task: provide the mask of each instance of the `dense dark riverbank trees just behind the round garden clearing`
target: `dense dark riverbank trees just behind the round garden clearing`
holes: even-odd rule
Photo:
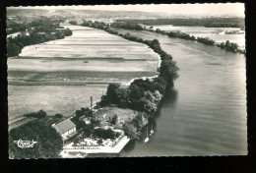
[[[152,81],[149,79],[135,80],[129,87],[110,84],[107,87],[106,95],[103,95],[98,102],[98,106],[116,104],[121,108],[130,108],[154,115],[166,87],[167,85],[161,77]]]

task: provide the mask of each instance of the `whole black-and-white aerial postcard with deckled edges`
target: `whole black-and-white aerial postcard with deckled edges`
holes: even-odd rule
[[[6,11],[10,159],[248,154],[244,3]]]

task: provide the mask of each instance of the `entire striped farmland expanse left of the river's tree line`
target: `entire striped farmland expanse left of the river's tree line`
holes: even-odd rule
[[[24,47],[8,58],[9,123],[45,110],[72,114],[100,99],[109,83],[157,75],[159,56],[142,43],[100,29],[65,26],[73,34]]]

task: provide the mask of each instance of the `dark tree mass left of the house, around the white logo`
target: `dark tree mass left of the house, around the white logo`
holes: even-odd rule
[[[17,144],[19,140],[37,143],[32,147],[21,148]],[[34,120],[9,133],[9,154],[12,158],[56,158],[61,148],[60,135],[42,121]]]

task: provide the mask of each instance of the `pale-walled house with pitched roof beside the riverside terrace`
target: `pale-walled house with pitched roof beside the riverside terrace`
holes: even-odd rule
[[[76,125],[70,119],[54,124],[52,127],[61,135],[63,141],[73,137],[77,132]]]

